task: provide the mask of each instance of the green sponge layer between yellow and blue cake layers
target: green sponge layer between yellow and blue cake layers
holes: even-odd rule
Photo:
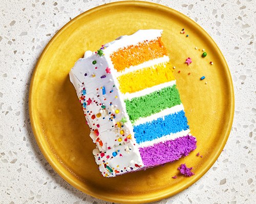
[[[124,102],[127,114],[132,122],[140,117],[147,117],[181,104],[180,94],[176,85],[165,87],[131,100],[125,99]]]

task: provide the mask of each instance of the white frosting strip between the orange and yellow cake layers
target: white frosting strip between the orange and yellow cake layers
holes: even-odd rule
[[[168,62],[168,61],[169,61],[168,56],[163,56],[161,58],[156,58],[156,59],[153,59],[153,60],[149,60],[149,61],[143,62],[139,65],[130,66],[129,68],[125,68],[123,71],[117,72],[117,77],[120,77],[121,75],[129,73],[129,72],[133,72],[133,71],[143,69],[145,67],[151,67],[151,66],[154,67],[154,65],[161,64],[161,63]]]

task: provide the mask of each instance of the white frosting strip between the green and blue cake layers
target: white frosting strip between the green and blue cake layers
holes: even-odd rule
[[[160,112],[150,115],[148,117],[144,117],[144,118],[140,117],[139,119],[137,119],[134,122],[134,126],[143,124],[145,122],[151,122],[152,120],[156,120],[157,118],[164,118],[164,116],[166,116],[166,115],[177,113],[182,110],[184,110],[184,107],[182,104],[174,106],[172,108],[167,108],[167,109],[164,109],[163,111],[160,111]]]

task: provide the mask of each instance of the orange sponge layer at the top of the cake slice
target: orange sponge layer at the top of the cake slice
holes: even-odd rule
[[[136,66],[143,62],[167,56],[167,50],[161,41],[156,40],[140,42],[137,45],[130,45],[118,49],[110,55],[114,68],[122,71],[130,66]]]

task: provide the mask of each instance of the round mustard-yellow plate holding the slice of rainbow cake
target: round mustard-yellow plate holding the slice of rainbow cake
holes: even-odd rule
[[[182,28],[189,37],[180,34]],[[170,62],[176,66],[177,86],[198,147],[177,162],[105,178],[94,161],[95,145],[70,83],[69,71],[86,50],[96,50],[101,44],[139,29],[163,29],[163,42]],[[201,57],[202,48],[207,52],[205,58]],[[187,57],[193,61],[189,66],[185,64]],[[214,65],[210,65],[210,61]],[[203,75],[205,80],[201,81]],[[217,160],[232,124],[233,86],[220,49],[196,22],[161,5],[118,2],[82,13],[52,38],[33,73],[29,112],[41,151],[71,185],[113,202],[150,202],[188,188]],[[196,157],[197,152],[203,158]],[[195,175],[178,174],[181,163],[193,166]],[[177,179],[172,179],[174,175],[178,175]]]

